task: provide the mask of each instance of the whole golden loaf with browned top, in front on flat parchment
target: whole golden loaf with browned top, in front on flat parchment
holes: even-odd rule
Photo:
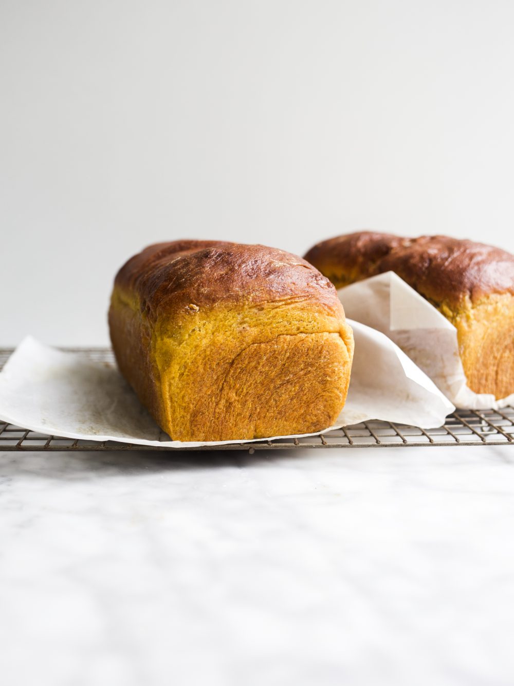
[[[173,440],[321,431],[345,403],[352,330],[332,283],[288,252],[149,246],[117,274],[109,324],[121,372]]]

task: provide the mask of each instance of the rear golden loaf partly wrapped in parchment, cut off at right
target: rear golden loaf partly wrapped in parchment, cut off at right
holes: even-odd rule
[[[446,236],[360,231],[318,243],[305,259],[337,288],[395,272],[456,327],[469,388],[496,399],[514,392],[514,255]]]

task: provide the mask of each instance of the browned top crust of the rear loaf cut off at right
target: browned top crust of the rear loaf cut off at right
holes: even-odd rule
[[[448,236],[402,238],[359,231],[318,243],[305,259],[337,287],[392,271],[435,303],[514,294],[514,255]]]

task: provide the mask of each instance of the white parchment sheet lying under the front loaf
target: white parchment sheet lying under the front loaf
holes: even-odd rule
[[[382,333],[350,324],[355,337],[350,391],[336,425],[324,430],[367,419],[441,426],[454,407],[435,384]],[[58,351],[32,337],[21,342],[0,372],[0,418],[43,434],[84,440],[171,448],[241,442],[171,440],[114,365]]]

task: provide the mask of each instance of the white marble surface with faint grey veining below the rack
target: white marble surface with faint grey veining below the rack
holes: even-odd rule
[[[3,686],[514,683],[514,448],[0,453]]]

